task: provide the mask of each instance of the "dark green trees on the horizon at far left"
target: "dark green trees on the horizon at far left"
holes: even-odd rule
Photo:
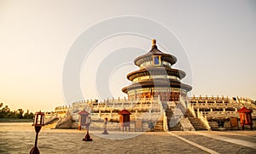
[[[27,110],[24,114],[24,111],[22,109],[18,109],[17,111],[11,111],[9,109],[9,106],[4,106],[3,103],[0,103],[0,118],[25,118],[25,119],[32,119],[34,117],[34,114]]]

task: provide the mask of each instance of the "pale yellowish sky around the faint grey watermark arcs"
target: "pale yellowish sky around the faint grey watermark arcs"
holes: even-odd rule
[[[183,57],[175,54],[178,51],[168,52],[177,56],[178,69],[191,71],[183,79],[183,83],[193,87],[190,95],[229,95],[256,100],[253,0],[0,0],[0,102],[12,110],[30,111],[54,111],[56,106],[69,105],[71,102],[67,102],[63,93],[62,75],[70,48],[90,27],[122,16],[154,20],[172,31],[183,46],[189,66],[183,66]],[[96,31],[96,35],[99,33]],[[165,45],[160,44],[160,50],[165,51]],[[148,37],[124,34],[99,40],[80,71],[85,100],[99,98],[98,67],[104,62],[107,68],[106,57],[123,47],[136,47],[137,52],[132,54],[130,63],[116,66],[106,78],[109,97],[125,97],[121,88],[131,83],[126,74],[138,69],[132,63],[134,58],[150,49]],[[125,56],[115,59],[122,60]]]

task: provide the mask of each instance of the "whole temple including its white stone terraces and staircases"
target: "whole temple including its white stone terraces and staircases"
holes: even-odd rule
[[[134,60],[139,70],[126,76],[132,82],[122,88],[128,98],[79,100],[72,106],[58,106],[55,112],[45,115],[45,123],[54,128],[78,128],[79,111],[87,111],[92,122],[90,129],[102,128],[103,120],[108,118],[112,122],[108,130],[119,130],[123,123],[119,114],[125,109],[129,114],[124,119],[129,117],[127,126],[131,131],[146,131],[148,123],[154,124],[154,131],[256,128],[256,101],[223,95],[188,98],[192,87],[181,82],[186,73],[172,68],[177,58],[161,52],[155,40],[152,43],[147,54]]]

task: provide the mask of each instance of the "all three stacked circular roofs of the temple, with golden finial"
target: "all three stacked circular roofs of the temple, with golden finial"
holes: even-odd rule
[[[192,89],[191,86],[181,83],[180,79],[186,76],[184,71],[180,71],[177,69],[172,69],[172,65],[177,62],[177,58],[172,54],[162,53],[157,46],[155,45],[156,41],[153,40],[153,45],[151,50],[147,54],[143,54],[137,59],[134,60],[134,63],[137,66],[141,66],[144,62],[150,61],[149,65],[141,66],[140,70],[132,71],[127,75],[127,78],[130,81],[133,81],[137,77],[144,77],[144,79],[139,79],[137,82],[131,83],[130,86],[122,88],[124,93],[128,93],[128,91],[139,88],[181,88],[186,90],[187,92]],[[164,63],[158,63],[152,65],[152,61],[154,57],[158,57],[160,61],[166,61],[170,63],[171,66],[166,66]],[[149,76],[145,78],[145,76]],[[169,78],[167,76],[171,76],[174,78]],[[178,78],[175,78],[178,77]]]

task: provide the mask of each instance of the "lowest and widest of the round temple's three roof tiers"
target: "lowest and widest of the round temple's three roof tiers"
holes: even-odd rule
[[[138,88],[181,88],[189,92],[192,87],[180,83],[177,80],[167,79],[167,78],[154,78],[146,79],[138,83],[132,83],[130,86],[122,88],[122,91],[127,94],[128,91]]]

